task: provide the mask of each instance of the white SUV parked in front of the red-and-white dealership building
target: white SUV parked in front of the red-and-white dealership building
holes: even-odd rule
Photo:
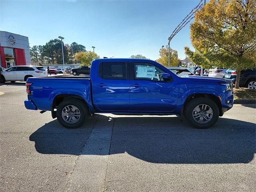
[[[1,83],[6,81],[26,81],[29,77],[47,77],[47,71],[42,66],[13,66],[1,72]]]

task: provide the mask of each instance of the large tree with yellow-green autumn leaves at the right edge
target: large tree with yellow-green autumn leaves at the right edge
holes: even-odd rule
[[[210,0],[195,13],[190,26],[192,45],[214,66],[238,71],[252,68],[256,55],[256,0]],[[190,56],[191,57],[191,56]]]

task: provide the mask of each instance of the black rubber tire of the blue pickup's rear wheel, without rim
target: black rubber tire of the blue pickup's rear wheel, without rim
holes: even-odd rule
[[[62,110],[64,110],[64,108],[69,105],[75,106],[80,111],[80,118],[75,123],[68,123],[62,118]],[[86,120],[86,118],[88,116],[88,109],[87,109],[86,105],[81,100],[75,99],[75,98],[70,98],[70,99],[66,99],[66,100],[62,101],[58,105],[56,116],[57,116],[58,122],[62,126],[69,128],[69,129],[74,129],[74,128],[80,127],[84,123],[84,121]]]

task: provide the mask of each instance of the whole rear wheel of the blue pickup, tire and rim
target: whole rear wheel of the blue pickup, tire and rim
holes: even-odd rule
[[[57,108],[58,122],[69,129],[80,127],[86,120],[88,110],[79,99],[70,98],[62,101]]]

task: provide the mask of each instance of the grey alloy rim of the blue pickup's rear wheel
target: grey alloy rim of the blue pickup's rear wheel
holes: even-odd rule
[[[74,124],[78,122],[78,120],[80,119],[81,113],[76,106],[67,105],[62,109],[61,115],[62,115],[62,119],[65,122],[69,124]]]

